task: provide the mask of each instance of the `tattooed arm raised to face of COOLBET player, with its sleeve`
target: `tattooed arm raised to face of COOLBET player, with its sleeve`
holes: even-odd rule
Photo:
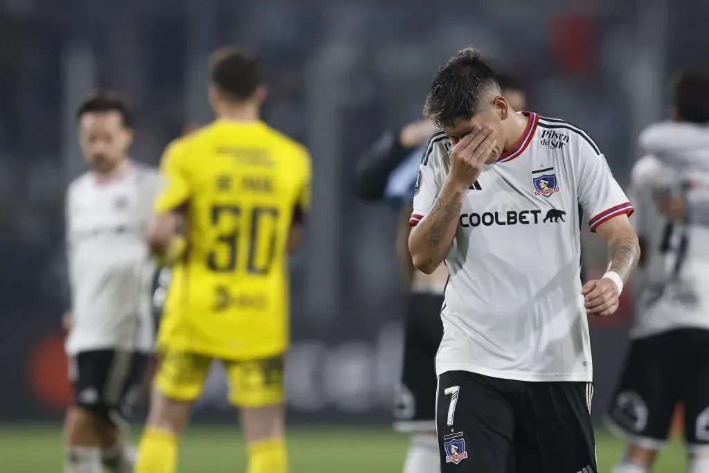
[[[440,177],[437,177],[435,170],[441,169],[447,152],[441,143],[433,141],[435,139],[427,148],[434,146],[435,153],[429,153],[427,149],[422,160],[418,192],[413,198],[411,225],[414,228],[408,238],[413,265],[425,274],[432,274],[450,251],[468,187],[479,177],[496,143],[495,132],[491,128],[477,128],[462,138],[451,152],[450,172],[440,186]],[[429,167],[431,170],[428,170]],[[438,174],[440,176],[442,173]],[[432,196],[435,196],[432,205],[426,205]],[[419,212],[426,207],[430,210],[427,209],[424,216]]]

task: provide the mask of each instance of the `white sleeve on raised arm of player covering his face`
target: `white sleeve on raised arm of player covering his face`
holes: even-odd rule
[[[448,153],[444,145],[447,143],[447,135],[444,131],[434,133],[428,140],[428,145],[423,150],[421,164],[418,168],[418,177],[413,189],[413,213],[409,224],[416,226],[421,219],[430,211],[438,193],[443,187],[445,179],[445,161]]]

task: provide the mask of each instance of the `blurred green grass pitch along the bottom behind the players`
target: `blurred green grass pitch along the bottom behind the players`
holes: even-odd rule
[[[0,472],[60,472],[60,429],[60,425],[0,426]],[[133,434],[137,437],[139,432]],[[407,445],[406,435],[387,426],[294,427],[289,430],[291,473],[399,473]],[[598,433],[598,473],[609,472],[621,452],[622,443]],[[235,428],[196,426],[182,441],[179,473],[244,471],[244,445]],[[653,472],[683,471],[683,447],[672,443],[661,452]]]

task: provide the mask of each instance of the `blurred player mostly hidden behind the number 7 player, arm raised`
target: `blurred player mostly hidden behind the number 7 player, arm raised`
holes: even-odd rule
[[[525,108],[525,92],[507,74],[497,74],[502,94],[513,108]],[[409,218],[418,166],[437,127],[427,118],[408,123],[398,133],[386,132],[357,165],[355,188],[362,199],[386,201],[398,208],[396,254],[404,285],[409,289],[404,318],[401,383],[396,389],[394,430],[411,435],[403,473],[440,471],[435,430],[435,355],[443,336],[437,314],[443,305],[448,273],[443,265],[433,274],[415,271],[408,251]]]

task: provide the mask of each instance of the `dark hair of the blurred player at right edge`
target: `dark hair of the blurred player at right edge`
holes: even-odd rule
[[[676,74],[670,87],[670,100],[680,121],[709,122],[709,73],[683,71]]]

